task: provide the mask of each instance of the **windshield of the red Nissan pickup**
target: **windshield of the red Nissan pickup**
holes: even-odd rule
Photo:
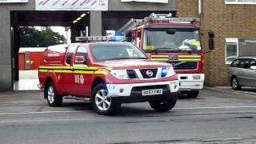
[[[142,53],[141,50],[131,43],[94,43],[90,44],[90,51],[94,61],[147,59],[146,54]]]

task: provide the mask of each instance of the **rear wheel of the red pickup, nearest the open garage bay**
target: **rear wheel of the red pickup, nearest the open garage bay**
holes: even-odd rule
[[[49,106],[62,106],[62,96],[59,96],[56,92],[56,88],[53,82],[48,82],[44,90],[45,98],[47,99]]]

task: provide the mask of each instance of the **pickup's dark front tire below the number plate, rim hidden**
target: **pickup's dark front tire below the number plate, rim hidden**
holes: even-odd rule
[[[150,106],[152,109],[158,112],[166,112],[174,108],[178,99],[178,94],[174,94],[171,99],[166,99],[162,101],[151,101]]]

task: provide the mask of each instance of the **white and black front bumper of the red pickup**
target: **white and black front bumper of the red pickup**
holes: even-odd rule
[[[178,81],[148,82],[130,84],[106,84],[109,94],[113,99],[122,102],[148,102],[158,99],[168,99],[178,92]],[[142,90],[162,89],[163,94],[142,96]]]

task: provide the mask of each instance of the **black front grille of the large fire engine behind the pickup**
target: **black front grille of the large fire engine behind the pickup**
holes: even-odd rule
[[[173,64],[174,70],[198,70],[198,62],[181,62],[175,66],[177,63],[180,62],[170,62],[170,64]]]

